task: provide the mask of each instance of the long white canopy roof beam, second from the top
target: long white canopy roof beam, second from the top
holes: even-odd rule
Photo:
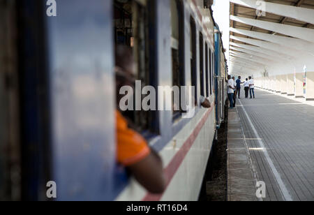
[[[314,12],[313,12],[314,15]],[[261,20],[253,20],[245,17],[237,17],[234,15],[230,16],[231,20],[242,22],[244,24],[259,27],[261,29],[267,29],[269,31],[274,31],[280,34],[285,34],[287,36],[292,36],[302,40],[307,40],[314,43],[314,29],[306,29],[302,27],[294,27],[287,24],[278,24],[274,22],[266,22]]]

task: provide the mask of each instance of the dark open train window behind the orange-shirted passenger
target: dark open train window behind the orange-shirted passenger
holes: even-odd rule
[[[114,0],[114,44],[125,45],[132,49],[135,68],[133,77],[141,81],[141,87],[150,85],[149,73],[149,19],[147,1]],[[117,91],[117,94],[119,91]],[[133,99],[135,103],[135,98]],[[133,105],[135,108],[135,104]],[[139,132],[149,131],[152,127],[151,111],[123,112],[132,127]]]

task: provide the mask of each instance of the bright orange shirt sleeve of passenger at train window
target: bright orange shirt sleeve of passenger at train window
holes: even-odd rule
[[[149,156],[151,149],[142,135],[128,128],[128,123],[117,111],[117,160],[124,166],[133,165]]]

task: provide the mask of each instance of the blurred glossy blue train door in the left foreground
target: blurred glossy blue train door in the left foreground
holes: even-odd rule
[[[111,0],[67,0],[57,2],[57,17],[44,17],[57,200],[114,196],[112,10]]]

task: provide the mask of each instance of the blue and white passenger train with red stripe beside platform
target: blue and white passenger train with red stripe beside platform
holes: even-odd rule
[[[0,200],[197,200],[225,117],[227,66],[211,1],[0,0]],[[149,195],[116,161],[115,45],[133,47],[142,85],[195,86],[195,116],[131,112],[163,158]],[[160,96],[160,95],[158,95]]]

